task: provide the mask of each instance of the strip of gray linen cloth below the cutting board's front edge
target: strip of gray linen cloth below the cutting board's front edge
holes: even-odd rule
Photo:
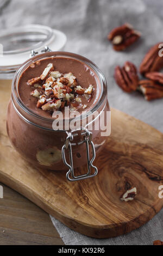
[[[95,239],[81,235],[51,216],[65,245],[153,245],[155,240],[163,240],[163,209],[151,221],[129,234],[110,239]]]

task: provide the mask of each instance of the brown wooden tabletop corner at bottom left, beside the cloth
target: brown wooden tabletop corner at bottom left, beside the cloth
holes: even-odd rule
[[[0,245],[64,245],[49,215],[11,188],[0,199]]]

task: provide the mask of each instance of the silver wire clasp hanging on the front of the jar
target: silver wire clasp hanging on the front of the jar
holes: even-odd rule
[[[74,133],[74,132],[76,132],[76,133]],[[69,168],[68,172],[66,173],[67,180],[69,180],[69,181],[83,180],[83,179],[87,179],[87,178],[96,176],[98,173],[98,169],[96,166],[93,166],[93,161],[95,160],[96,153],[95,153],[95,146],[92,142],[92,132],[90,132],[87,129],[84,129],[84,131],[81,133],[81,135],[84,136],[84,140],[80,141],[78,143],[71,143],[73,141],[73,137],[78,136],[77,131],[71,131],[71,132],[66,132],[66,133],[67,133],[66,142],[65,142],[65,145],[63,145],[63,147],[62,147],[62,160],[63,160],[64,164]],[[80,145],[83,143],[86,144],[87,173],[83,174],[83,175],[75,176],[74,169],[73,169],[72,146]],[[90,153],[89,153],[89,144],[91,144],[92,155],[93,155],[91,160],[90,160]],[[70,164],[68,164],[66,161],[65,149],[69,150]],[[93,174],[91,174],[91,168],[95,169],[95,172]]]

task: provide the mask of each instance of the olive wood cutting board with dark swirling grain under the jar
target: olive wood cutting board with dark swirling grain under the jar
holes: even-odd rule
[[[96,177],[68,182],[65,172],[34,168],[12,148],[5,128],[10,82],[0,88],[0,181],[23,194],[73,230],[104,238],[140,227],[161,210],[163,134],[111,109],[111,136],[94,161]],[[85,167],[76,170],[84,172]],[[137,188],[133,201],[120,200],[125,187]],[[1,203],[1,202],[0,202]]]

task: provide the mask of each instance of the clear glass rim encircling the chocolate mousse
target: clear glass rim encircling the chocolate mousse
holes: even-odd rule
[[[70,57],[73,59],[77,59],[77,60],[80,60],[80,62],[83,62],[84,64],[89,66],[95,72],[95,74],[98,76],[98,79],[99,79],[99,82],[101,85],[101,94],[99,95],[99,99],[98,99],[97,103],[95,104],[95,106],[93,106],[85,115],[82,115],[82,119],[89,117],[90,114],[93,114],[93,112],[97,111],[99,109],[99,107],[102,105],[102,103],[104,102],[104,99],[107,95],[107,84],[106,84],[106,79],[105,79],[103,72],[91,60],[89,60],[79,54],[76,54],[76,53],[63,52],[63,51],[40,53],[40,54],[37,54],[34,57],[26,60],[26,62],[24,62],[20,66],[20,68],[17,69],[17,71],[14,75],[14,78],[12,80],[12,95],[14,98],[14,99],[12,99],[12,102],[13,103],[16,102],[17,105],[19,107],[21,107],[21,109],[24,113],[29,114],[30,116],[36,118],[37,120],[48,122],[48,123],[53,123],[53,121],[54,121],[53,118],[42,117],[41,115],[36,114],[34,111],[32,111],[32,109],[29,109],[26,105],[24,105],[24,103],[21,100],[21,97],[18,93],[18,81],[20,79],[20,76],[22,75],[22,72],[33,62],[36,62],[36,61],[42,60],[42,59],[46,59],[48,57]],[[22,117],[22,114],[21,114],[21,117]],[[80,117],[81,117],[81,115],[78,118],[80,118]],[[72,118],[72,119],[77,120],[78,118]],[[26,121],[27,121],[27,118],[24,118],[24,119],[26,119]],[[70,121],[72,119],[70,119]],[[29,121],[29,123],[33,124],[31,121]],[[39,125],[39,127],[45,128],[40,125]]]

